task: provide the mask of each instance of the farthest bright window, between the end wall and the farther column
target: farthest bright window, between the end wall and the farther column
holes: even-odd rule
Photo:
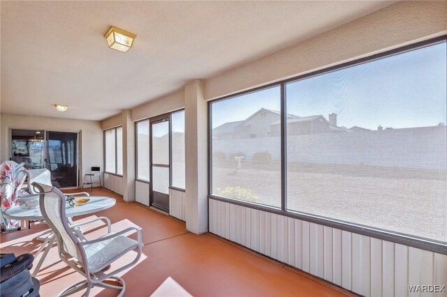
[[[105,172],[123,174],[122,127],[104,131]]]

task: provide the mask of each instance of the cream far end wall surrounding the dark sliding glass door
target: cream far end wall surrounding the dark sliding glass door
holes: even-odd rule
[[[99,121],[0,114],[1,162],[10,158],[10,129],[13,128],[80,132],[79,148],[82,160],[82,163],[79,164],[82,170],[80,172],[80,183],[82,183],[84,174],[89,173],[92,166],[101,167],[101,171],[104,169],[103,132]]]

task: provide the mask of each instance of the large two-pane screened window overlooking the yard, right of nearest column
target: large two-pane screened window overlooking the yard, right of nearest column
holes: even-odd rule
[[[211,102],[211,195],[447,242],[446,52],[444,38]]]

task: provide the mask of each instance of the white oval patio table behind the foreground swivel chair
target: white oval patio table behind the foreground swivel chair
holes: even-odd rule
[[[68,194],[69,195],[69,194]],[[103,211],[107,208],[110,208],[115,205],[116,200],[112,197],[105,197],[105,196],[89,196],[90,200],[86,204],[82,204],[80,206],[71,206],[69,204],[66,204],[66,216],[68,219],[68,223],[73,227],[73,231],[80,236],[80,238],[84,238],[82,235],[82,231],[80,230],[79,226],[82,224],[87,224],[89,222],[93,222],[95,220],[107,220],[108,222],[108,228],[110,229],[110,220],[108,218],[102,217],[97,218],[95,220],[90,220],[89,222],[76,224],[73,222],[73,217],[78,215],[88,215],[90,213],[97,213],[98,211]],[[34,208],[34,209],[22,209],[20,206],[14,206],[11,208],[8,208],[6,211],[3,212],[3,216],[10,220],[44,220],[43,215],[41,213],[40,208]],[[110,231],[110,230],[109,230]],[[36,268],[34,268],[34,271],[32,273],[33,276],[36,276],[39,269],[41,268],[43,261],[45,260],[45,257],[47,257],[48,252],[50,252],[50,249],[56,240],[56,236],[53,236],[52,232],[45,238],[45,241],[42,243],[39,250],[36,252],[35,257],[38,257],[38,254],[41,253],[41,251],[45,248],[45,252],[43,253],[40,261],[36,265]]]

